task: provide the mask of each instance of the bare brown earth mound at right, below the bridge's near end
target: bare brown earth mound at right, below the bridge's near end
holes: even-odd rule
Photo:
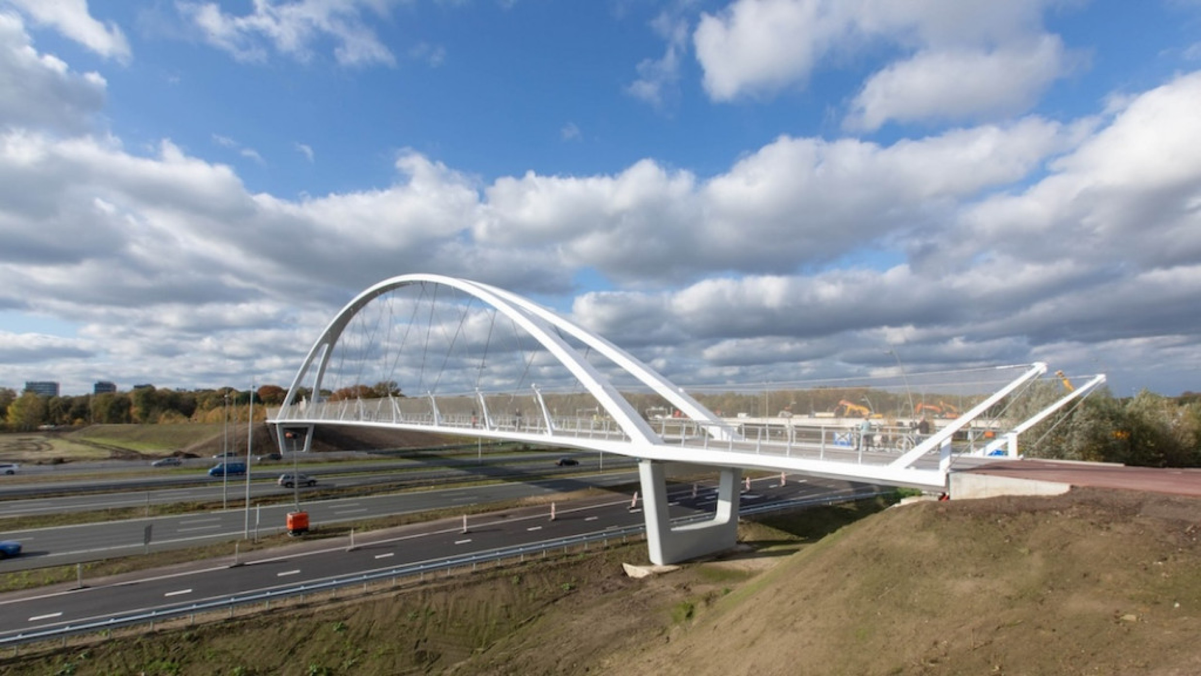
[[[922,503],[723,599],[625,674],[1201,674],[1201,503]]]

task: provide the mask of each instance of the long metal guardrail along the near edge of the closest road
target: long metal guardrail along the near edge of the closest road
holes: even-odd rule
[[[830,504],[836,502],[848,502],[853,499],[862,499],[866,497],[873,497],[877,495],[884,495],[888,491],[873,491],[866,493],[855,493],[850,496],[823,496],[813,498],[793,498],[773,503],[767,503],[763,505],[748,505],[740,509],[740,514],[759,514],[764,512],[776,512],[787,509],[789,507],[802,507],[813,504]],[[693,516],[687,519],[680,519],[673,521],[673,524],[689,524],[694,521],[704,521],[710,519],[709,515]],[[596,542],[607,542],[616,538],[628,538],[631,536],[640,536],[646,530],[643,524],[626,526],[623,528],[615,528],[611,531],[604,531],[602,533],[592,533],[586,536],[569,536],[566,538],[557,538],[554,540],[545,540],[536,545],[518,545],[512,548],[500,548],[490,551],[465,555],[465,556],[453,556],[446,558],[438,558],[432,561],[423,561],[419,563],[411,563],[407,566],[396,566],[388,569],[374,570],[370,573],[359,573],[354,575],[335,576],[325,580],[318,580],[313,582],[306,582],[303,585],[297,585],[294,587],[287,587],[281,590],[269,590],[264,592],[253,592],[247,594],[231,594],[225,598],[213,599],[202,603],[180,604],[178,606],[155,609],[145,612],[133,612],[129,615],[116,615],[108,617],[106,620],[92,620],[86,622],[80,622],[78,624],[65,624],[62,627],[52,627],[46,629],[34,629],[30,632],[18,632],[6,633],[7,635],[0,636],[0,647],[17,647],[24,644],[31,644],[36,641],[46,641],[52,639],[66,639],[67,636],[74,636],[79,634],[88,634],[92,632],[107,632],[112,629],[119,629],[125,627],[133,627],[137,624],[154,624],[155,622],[178,620],[180,617],[186,617],[189,615],[198,615],[203,612],[214,612],[219,610],[233,611],[234,608],[243,605],[252,605],[257,603],[270,604],[275,599],[285,599],[291,597],[304,597],[305,594],[319,593],[335,591],[342,587],[348,587],[351,585],[365,585],[374,581],[396,579],[396,578],[412,578],[424,575],[425,573],[436,573],[440,570],[449,570],[453,568],[462,568],[466,566],[477,566],[479,563],[490,563],[494,561],[502,561],[506,558],[521,558],[524,560],[526,555],[543,554],[555,549],[566,549],[576,545],[588,545]]]

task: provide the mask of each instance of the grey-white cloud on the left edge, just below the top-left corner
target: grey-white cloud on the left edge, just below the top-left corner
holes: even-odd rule
[[[85,131],[104,104],[106,89],[98,74],[72,72],[60,59],[38,54],[20,18],[0,12],[0,130]]]

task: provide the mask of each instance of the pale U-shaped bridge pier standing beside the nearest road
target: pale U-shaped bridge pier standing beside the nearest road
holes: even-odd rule
[[[641,460],[638,474],[643,486],[646,518],[646,545],[651,562],[658,566],[733,549],[739,538],[739,490],[742,469],[722,467],[717,485],[717,512],[698,524],[671,526],[668,515],[667,473],[663,462]]]

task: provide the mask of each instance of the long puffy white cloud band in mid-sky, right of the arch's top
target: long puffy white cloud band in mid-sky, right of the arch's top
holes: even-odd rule
[[[621,282],[820,265],[945,217],[1063,148],[1058,125],[957,130],[880,146],[781,137],[701,181],[644,160],[613,177],[502,178],[477,240],[554,243]]]

